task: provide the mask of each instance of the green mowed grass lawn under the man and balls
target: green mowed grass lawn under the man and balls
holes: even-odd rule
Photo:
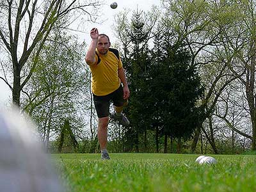
[[[190,154],[53,154],[67,191],[256,191],[256,156]]]

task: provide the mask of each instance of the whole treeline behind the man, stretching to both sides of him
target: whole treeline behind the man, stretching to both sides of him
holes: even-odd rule
[[[255,5],[164,0],[150,12],[138,7],[116,15],[131,126],[110,122],[110,152],[255,151]],[[60,24],[67,18],[60,19],[42,41],[35,38],[39,51],[24,54],[21,68],[13,63],[15,78],[24,79],[13,80],[14,101],[20,92],[20,108],[35,120],[51,152],[98,152],[86,45],[68,35]],[[9,50],[8,41],[3,45]]]

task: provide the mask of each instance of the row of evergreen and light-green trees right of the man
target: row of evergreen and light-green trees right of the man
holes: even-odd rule
[[[119,13],[131,127],[109,126],[110,150],[255,150],[254,13],[255,1],[164,1],[161,11]]]

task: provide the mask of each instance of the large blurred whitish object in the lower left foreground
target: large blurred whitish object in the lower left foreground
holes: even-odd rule
[[[36,140],[31,120],[19,111],[0,111],[0,190],[58,192],[60,181]]]

